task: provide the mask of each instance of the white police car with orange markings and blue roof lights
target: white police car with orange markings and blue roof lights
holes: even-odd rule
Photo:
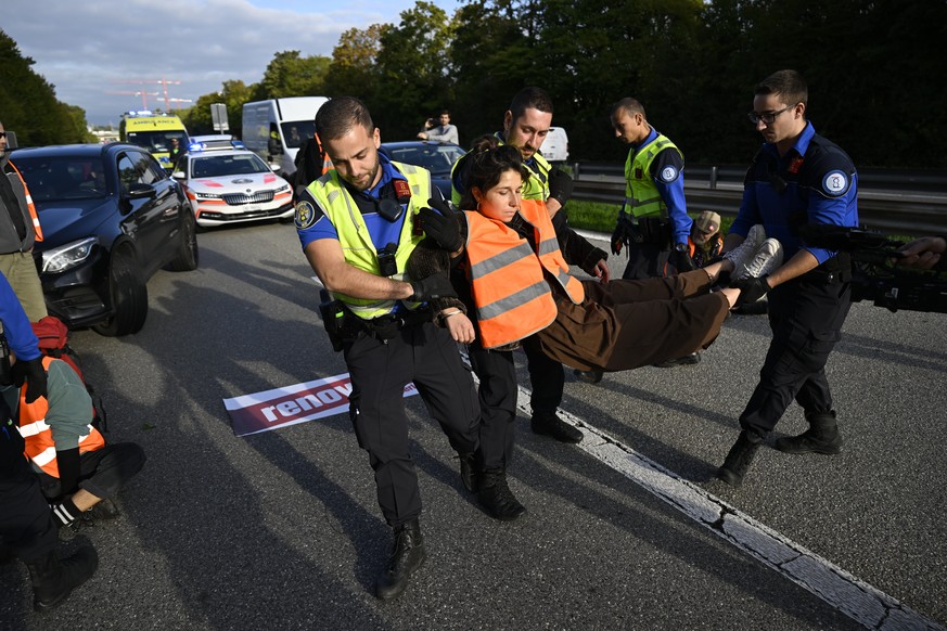
[[[199,137],[178,159],[174,177],[202,228],[293,218],[290,183],[240,141]]]

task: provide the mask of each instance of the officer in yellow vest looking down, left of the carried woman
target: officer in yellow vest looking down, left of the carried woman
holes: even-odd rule
[[[302,193],[296,230],[306,258],[337,300],[332,312],[342,314],[336,333],[351,377],[349,415],[395,536],[376,583],[376,595],[386,600],[407,588],[425,558],[404,388],[413,381],[461,462],[477,448],[479,408],[456,343],[434,325],[426,305],[456,295],[447,274],[412,282],[405,273],[425,236],[415,213],[431,197],[439,199],[431,175],[379,153],[379,129],[358,99],[322,105],[316,131],[335,168]]]

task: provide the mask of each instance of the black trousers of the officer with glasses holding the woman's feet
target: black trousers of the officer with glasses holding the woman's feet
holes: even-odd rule
[[[852,289],[812,271],[775,287],[767,298],[772,342],[759,384],[740,415],[740,426],[759,436],[776,427],[794,399],[807,417],[832,410],[824,369],[842,338]]]

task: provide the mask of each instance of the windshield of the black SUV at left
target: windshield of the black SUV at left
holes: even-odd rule
[[[13,162],[23,173],[34,202],[94,199],[108,193],[104,165],[99,156],[14,156]]]

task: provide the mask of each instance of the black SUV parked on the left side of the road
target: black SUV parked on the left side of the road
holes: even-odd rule
[[[194,214],[181,186],[141,147],[111,143],[20,149],[11,162],[36,204],[34,248],[50,313],[102,335],[136,333],[148,280],[197,268]]]

